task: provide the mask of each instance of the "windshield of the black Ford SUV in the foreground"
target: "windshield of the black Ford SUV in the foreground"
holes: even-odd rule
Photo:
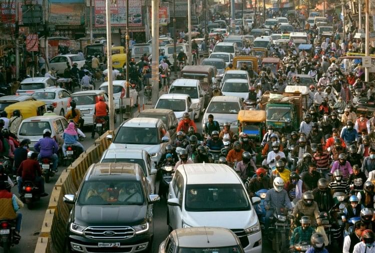
[[[116,173],[114,169],[114,173]],[[123,205],[136,204],[143,205],[145,198],[139,181],[124,180],[90,180],[82,185],[78,197],[79,205],[106,204]]]

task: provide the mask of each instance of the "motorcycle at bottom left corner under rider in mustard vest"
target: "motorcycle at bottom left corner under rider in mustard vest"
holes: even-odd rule
[[[4,253],[11,252],[11,247],[20,242],[20,238],[14,236],[15,229],[15,220],[0,220],[0,246],[4,248]]]

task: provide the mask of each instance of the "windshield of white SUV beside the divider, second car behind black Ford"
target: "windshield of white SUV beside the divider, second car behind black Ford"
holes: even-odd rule
[[[160,143],[158,128],[122,126],[113,143],[156,145]]]

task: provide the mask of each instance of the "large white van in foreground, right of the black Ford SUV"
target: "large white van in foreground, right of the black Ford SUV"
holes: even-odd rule
[[[229,228],[245,252],[260,253],[262,234],[253,207],[259,202],[259,197],[250,199],[241,178],[225,164],[182,164],[169,184],[168,228]]]

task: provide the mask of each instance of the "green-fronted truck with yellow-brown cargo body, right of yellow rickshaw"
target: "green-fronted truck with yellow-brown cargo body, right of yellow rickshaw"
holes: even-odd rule
[[[301,92],[269,92],[260,99],[260,109],[266,111],[266,125],[281,129],[287,123],[293,130],[299,129],[303,117]]]

